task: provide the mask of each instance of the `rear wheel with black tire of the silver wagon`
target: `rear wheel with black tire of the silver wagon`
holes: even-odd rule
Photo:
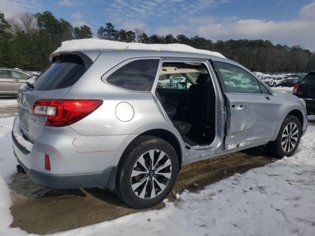
[[[133,208],[153,207],[172,190],[179,170],[174,148],[154,136],[140,136],[118,165],[116,192]]]

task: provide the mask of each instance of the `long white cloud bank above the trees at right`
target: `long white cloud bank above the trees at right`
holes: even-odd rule
[[[274,43],[301,45],[315,50],[315,2],[300,10],[300,17],[289,21],[268,21],[259,19],[194,17],[187,24],[159,27],[156,33],[199,35],[214,41],[218,39],[263,39]],[[192,27],[193,26],[193,27]]]

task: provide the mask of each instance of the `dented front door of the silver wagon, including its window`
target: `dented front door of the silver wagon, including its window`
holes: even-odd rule
[[[214,61],[226,97],[225,147],[249,146],[274,137],[279,103],[261,82],[245,69]]]

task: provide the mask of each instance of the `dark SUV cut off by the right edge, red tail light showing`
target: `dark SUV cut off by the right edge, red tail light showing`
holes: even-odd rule
[[[315,113],[315,71],[309,72],[295,85],[292,94],[305,100],[308,114]]]

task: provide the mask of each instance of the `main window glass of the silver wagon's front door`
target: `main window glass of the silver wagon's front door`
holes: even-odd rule
[[[216,61],[226,91],[236,93],[261,93],[258,80],[244,69],[225,62]]]

